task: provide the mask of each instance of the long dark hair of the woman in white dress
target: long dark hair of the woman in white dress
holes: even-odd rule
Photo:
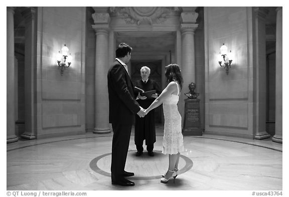
[[[184,80],[179,65],[170,64],[166,66],[165,76],[167,77],[168,84],[172,81],[177,81],[182,89]]]

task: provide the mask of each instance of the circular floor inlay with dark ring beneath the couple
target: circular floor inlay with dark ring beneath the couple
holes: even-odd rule
[[[129,150],[126,158],[126,167],[125,170],[134,172],[134,176],[129,177],[130,179],[159,179],[161,174],[167,170],[168,167],[168,155],[162,154],[160,150],[154,150],[155,156],[150,157],[147,155],[146,151],[143,151],[143,154],[140,157],[135,156],[136,150]],[[91,160],[89,163],[90,168],[102,175],[111,176],[110,174],[110,162],[111,162],[111,152],[102,154]],[[181,168],[180,168],[181,167]],[[180,155],[179,162],[179,173],[184,173],[190,170],[193,167],[193,161],[184,156]],[[128,168],[128,169],[127,169]],[[162,171],[162,173],[158,173]],[[158,173],[158,174],[153,174]],[[147,175],[141,175],[147,174]],[[149,175],[150,174],[150,175]]]

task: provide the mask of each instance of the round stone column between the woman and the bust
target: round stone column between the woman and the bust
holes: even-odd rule
[[[191,82],[196,82],[195,76],[195,30],[198,27],[196,20],[198,13],[195,12],[197,7],[182,7],[181,20],[181,34],[182,34],[182,62],[181,72],[184,78],[183,92],[180,95],[179,111],[184,117],[185,96],[184,90],[186,90]]]

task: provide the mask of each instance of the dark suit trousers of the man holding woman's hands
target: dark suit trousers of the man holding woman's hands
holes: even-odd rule
[[[123,177],[131,127],[131,124],[112,124],[113,137],[110,168],[112,181]]]

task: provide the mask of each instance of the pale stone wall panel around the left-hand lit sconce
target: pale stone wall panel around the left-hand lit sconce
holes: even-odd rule
[[[85,7],[39,7],[37,138],[85,132]],[[73,57],[63,76],[56,54]]]

